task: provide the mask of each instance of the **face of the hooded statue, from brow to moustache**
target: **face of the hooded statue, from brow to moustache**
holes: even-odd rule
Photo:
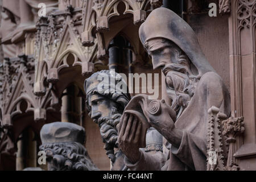
[[[153,68],[162,69],[166,76],[168,72],[172,71],[171,64],[179,65],[179,52],[182,50],[171,41],[163,38],[151,39],[148,41],[148,55],[152,58]]]

